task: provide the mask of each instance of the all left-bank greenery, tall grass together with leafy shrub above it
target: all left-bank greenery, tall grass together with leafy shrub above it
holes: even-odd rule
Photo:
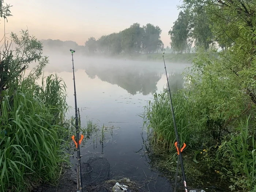
[[[1,17],[10,16],[10,7],[0,0]],[[25,192],[59,179],[68,161],[68,106],[66,86],[58,76],[38,83],[48,64],[42,43],[28,30],[22,30],[21,37],[11,33],[10,38],[14,46],[4,39],[0,52],[0,191]]]

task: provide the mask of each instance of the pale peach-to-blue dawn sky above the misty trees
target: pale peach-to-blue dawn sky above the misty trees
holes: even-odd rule
[[[162,29],[161,39],[169,45],[168,31],[178,18],[180,0],[4,0],[13,5],[5,33],[29,29],[38,39],[76,41],[119,32],[133,23],[151,23]],[[4,20],[0,21],[4,34]]]

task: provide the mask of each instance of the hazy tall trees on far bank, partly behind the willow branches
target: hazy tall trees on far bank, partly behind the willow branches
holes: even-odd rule
[[[184,8],[184,7],[180,7]],[[217,45],[222,49],[230,47],[233,43],[223,29],[213,33],[214,22],[207,16],[204,7],[196,10],[195,6],[187,6],[184,11],[180,11],[177,20],[169,31],[170,45],[173,52],[190,52],[192,44],[196,48],[203,47],[205,50],[211,46]]]

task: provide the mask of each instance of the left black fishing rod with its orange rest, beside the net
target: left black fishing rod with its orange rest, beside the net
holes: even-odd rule
[[[73,64],[73,80],[74,80],[74,96],[75,96],[75,119],[76,119],[76,141],[74,140],[74,135],[72,139],[74,140],[77,148],[77,192],[83,192],[83,184],[82,184],[82,170],[81,170],[81,156],[80,156],[80,142],[79,140],[79,125],[78,125],[78,110],[77,110],[77,103],[76,103],[76,82],[75,82],[75,71],[74,71],[74,59],[73,53],[75,50],[70,49],[72,55],[72,64]]]

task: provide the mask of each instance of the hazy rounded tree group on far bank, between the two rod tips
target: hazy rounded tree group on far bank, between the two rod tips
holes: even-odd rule
[[[154,53],[164,48],[160,39],[161,33],[160,27],[150,23],[142,27],[139,23],[133,23],[119,33],[102,35],[97,40],[90,37],[84,45],[90,53]]]

